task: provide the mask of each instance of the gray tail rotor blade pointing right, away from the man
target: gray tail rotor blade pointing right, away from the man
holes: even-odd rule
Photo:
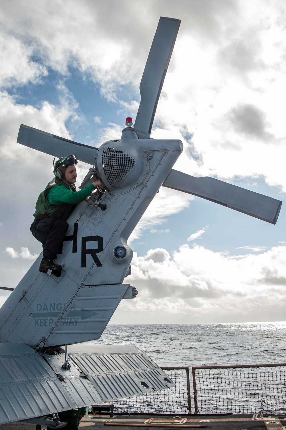
[[[195,178],[172,169],[163,187],[183,191],[276,224],[282,202],[214,178]]]

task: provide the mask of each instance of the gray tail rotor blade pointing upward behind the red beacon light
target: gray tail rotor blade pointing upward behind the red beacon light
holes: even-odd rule
[[[134,128],[139,137],[149,137],[180,19],[160,17],[140,83],[141,101]]]

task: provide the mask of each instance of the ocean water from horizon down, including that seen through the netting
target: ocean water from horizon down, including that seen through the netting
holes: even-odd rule
[[[132,344],[160,366],[286,362],[286,322],[109,325],[93,344]],[[120,412],[187,413],[186,371],[166,370],[176,387],[115,402]],[[286,365],[196,370],[200,413],[285,413]],[[192,412],[195,399],[192,393]]]

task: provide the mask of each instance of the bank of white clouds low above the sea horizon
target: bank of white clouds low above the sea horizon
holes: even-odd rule
[[[232,258],[203,246],[134,253],[132,282],[139,294],[119,309],[152,323],[283,321],[286,246]]]

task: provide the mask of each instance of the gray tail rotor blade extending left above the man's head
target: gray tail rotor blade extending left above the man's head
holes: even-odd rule
[[[58,158],[74,154],[77,160],[92,166],[97,151],[97,148],[92,146],[82,145],[63,137],[24,126],[24,124],[20,126],[17,143]]]

